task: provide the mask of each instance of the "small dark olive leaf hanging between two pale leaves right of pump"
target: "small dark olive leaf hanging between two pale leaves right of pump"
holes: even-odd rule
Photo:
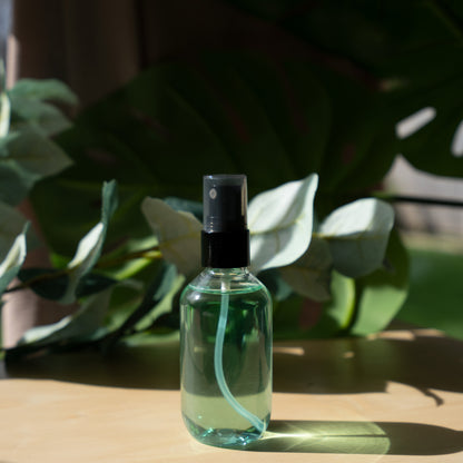
[[[308,249],[295,263],[282,267],[283,279],[302,296],[314,301],[331,298],[331,274],[333,258],[328,244],[313,237]]]

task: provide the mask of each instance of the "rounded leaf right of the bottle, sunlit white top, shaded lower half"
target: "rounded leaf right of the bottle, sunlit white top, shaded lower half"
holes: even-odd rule
[[[384,258],[394,210],[378,199],[358,199],[334,210],[319,226],[336,270],[357,278],[378,268]]]

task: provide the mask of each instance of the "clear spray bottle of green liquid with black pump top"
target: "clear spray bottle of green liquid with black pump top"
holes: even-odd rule
[[[180,299],[181,411],[198,441],[246,445],[270,417],[272,299],[247,268],[246,177],[204,181],[206,268]]]

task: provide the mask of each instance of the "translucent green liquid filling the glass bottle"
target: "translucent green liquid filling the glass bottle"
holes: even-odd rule
[[[256,280],[258,282],[258,280]],[[237,285],[229,294],[223,365],[233,396],[268,425],[272,406],[272,304],[262,284]],[[189,285],[181,298],[181,410],[198,441],[246,445],[256,430],[223,396],[214,367],[221,293]]]

